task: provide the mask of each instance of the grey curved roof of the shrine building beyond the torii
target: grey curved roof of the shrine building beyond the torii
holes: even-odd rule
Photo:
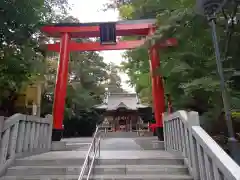
[[[147,107],[148,106],[145,106],[139,102],[136,93],[111,93],[107,95],[103,104],[95,106],[96,109],[105,109],[107,111],[114,111],[118,108],[137,110]]]

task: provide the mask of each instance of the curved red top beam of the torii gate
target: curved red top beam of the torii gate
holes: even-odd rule
[[[42,27],[42,32],[51,37],[61,37],[61,33],[68,32],[73,38],[99,37],[99,25],[106,22],[91,23],[57,23]],[[127,20],[116,23],[117,36],[146,36],[149,29],[156,23],[155,19]]]

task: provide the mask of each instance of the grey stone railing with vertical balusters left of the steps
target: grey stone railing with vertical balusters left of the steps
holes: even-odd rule
[[[0,176],[17,157],[51,149],[52,116],[0,117]]]

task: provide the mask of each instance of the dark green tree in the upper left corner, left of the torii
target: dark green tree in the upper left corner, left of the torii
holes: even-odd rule
[[[23,83],[42,70],[44,54],[39,51],[39,28],[58,20],[67,9],[67,1],[3,0],[0,7],[0,109],[11,115]]]

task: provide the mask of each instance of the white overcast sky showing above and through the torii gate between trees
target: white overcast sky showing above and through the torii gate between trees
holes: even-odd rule
[[[68,0],[72,7],[70,14],[84,22],[108,22],[119,20],[118,12],[115,10],[102,11],[104,4],[108,0]],[[106,63],[113,62],[120,65],[121,61],[124,61],[122,53],[124,51],[102,51],[100,54],[103,56]],[[134,92],[134,89],[129,87],[126,81],[128,76],[124,73],[119,73],[122,79],[123,89]]]

